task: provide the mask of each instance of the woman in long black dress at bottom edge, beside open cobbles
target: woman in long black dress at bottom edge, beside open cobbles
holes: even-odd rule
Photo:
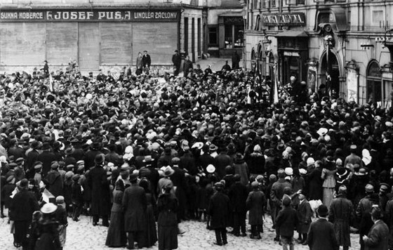
[[[159,211],[159,250],[178,248],[178,199],[171,194],[172,185],[164,186],[164,194],[159,196],[157,209]]]

